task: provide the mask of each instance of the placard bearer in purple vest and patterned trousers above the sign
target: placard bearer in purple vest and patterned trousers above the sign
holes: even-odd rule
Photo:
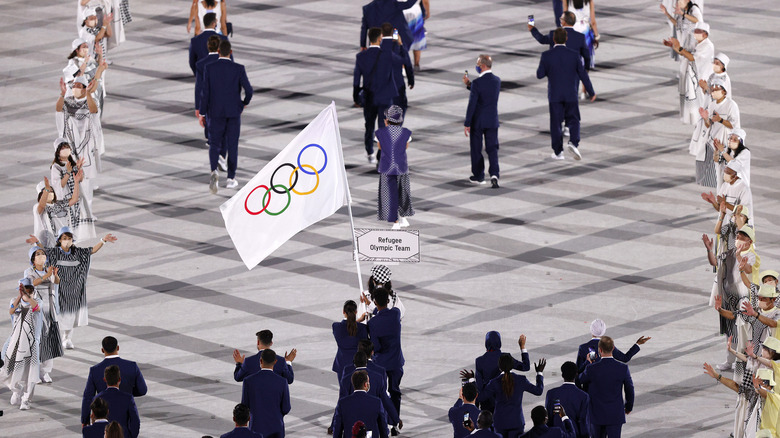
[[[398,105],[385,110],[385,126],[377,129],[377,148],[382,152],[377,171],[379,172],[379,195],[377,217],[380,221],[393,223],[393,229],[408,227],[407,217],[414,215],[409,164],[406,149],[412,131],[401,126],[404,111]]]

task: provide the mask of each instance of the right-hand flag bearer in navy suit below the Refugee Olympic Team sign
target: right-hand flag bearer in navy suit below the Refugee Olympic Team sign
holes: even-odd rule
[[[378,287],[372,294],[377,313],[368,321],[368,335],[374,343],[376,364],[385,369],[387,389],[398,415],[401,415],[401,378],[404,376],[404,354],[401,351],[401,311],[387,308],[387,289]]]

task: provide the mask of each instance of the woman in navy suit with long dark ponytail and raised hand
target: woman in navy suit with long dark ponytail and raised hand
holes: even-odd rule
[[[493,427],[504,438],[517,438],[525,430],[523,418],[523,393],[529,392],[540,396],[544,391],[545,359],[534,364],[536,384],[533,385],[525,376],[512,374],[514,359],[510,354],[502,354],[498,359],[501,375],[491,380],[485,391],[479,395],[479,400],[493,398],[496,400],[496,410],[493,413]]]

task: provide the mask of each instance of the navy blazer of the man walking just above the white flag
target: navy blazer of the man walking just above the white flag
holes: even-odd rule
[[[241,99],[241,89],[244,98]],[[203,70],[200,113],[214,117],[239,117],[252,100],[252,85],[243,65],[219,58]]]

